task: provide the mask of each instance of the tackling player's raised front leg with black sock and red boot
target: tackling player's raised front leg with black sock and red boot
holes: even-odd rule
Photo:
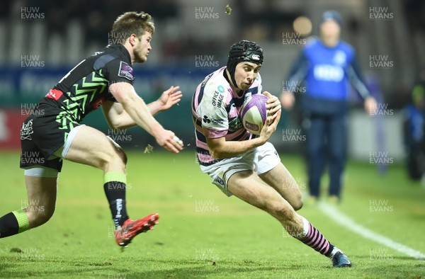
[[[115,240],[118,245],[127,246],[137,234],[153,229],[154,225],[158,224],[159,215],[152,214],[139,220],[131,220],[127,214],[125,200],[125,152],[113,139],[92,127],[80,126],[72,135],[73,131],[69,134],[69,137],[72,136],[72,142],[65,144],[62,156],[69,161],[103,170],[103,189],[113,217]]]

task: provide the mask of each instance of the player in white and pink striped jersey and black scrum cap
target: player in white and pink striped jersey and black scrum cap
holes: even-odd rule
[[[239,41],[230,49],[227,66],[206,76],[196,89],[192,113],[200,169],[226,195],[265,210],[291,236],[331,258],[334,267],[349,267],[348,257],[295,212],[302,207],[300,189],[268,142],[281,111],[278,98],[262,92],[261,64],[261,47]],[[261,93],[269,98],[266,108],[271,116],[256,136],[243,127],[239,113],[245,98]]]

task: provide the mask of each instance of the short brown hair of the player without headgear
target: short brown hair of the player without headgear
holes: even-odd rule
[[[149,13],[128,11],[118,16],[112,25],[111,36],[119,38],[124,43],[131,34],[140,38],[145,32],[154,33],[154,19]]]

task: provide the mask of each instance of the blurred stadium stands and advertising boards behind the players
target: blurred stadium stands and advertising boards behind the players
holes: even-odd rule
[[[229,5],[231,11],[227,10]],[[169,86],[181,86],[180,106],[157,118],[194,146],[190,102],[203,77],[225,66],[230,45],[254,40],[263,47],[263,89],[279,95],[289,67],[311,36],[324,11],[334,9],[344,21],[341,38],[353,45],[371,91],[380,99],[379,115],[364,112],[351,94],[349,154],[370,161],[370,152],[405,159],[403,109],[414,86],[423,84],[425,2],[421,0],[157,0],[157,1],[1,1],[0,2],[0,149],[19,149],[21,123],[42,96],[69,69],[113,42],[108,32],[125,11],[154,17],[153,50],[135,65],[135,89],[154,101]],[[382,62],[376,63],[373,62]],[[145,147],[154,139],[139,128],[121,134],[108,129],[100,110],[85,123],[125,147]],[[281,152],[302,152],[296,110],[284,112],[272,142]],[[385,171],[387,164],[378,169]]]

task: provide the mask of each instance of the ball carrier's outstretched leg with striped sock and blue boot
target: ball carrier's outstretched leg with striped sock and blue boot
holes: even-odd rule
[[[237,198],[275,217],[291,236],[331,258],[334,267],[351,266],[348,257],[341,250],[327,241],[304,217],[298,215],[276,189],[268,186],[253,171],[234,173],[227,181],[227,189]]]

